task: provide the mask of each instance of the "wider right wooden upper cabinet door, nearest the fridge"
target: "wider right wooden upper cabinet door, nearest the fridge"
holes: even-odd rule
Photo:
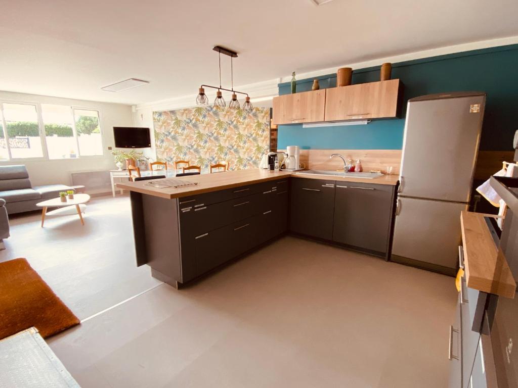
[[[400,85],[389,80],[328,88],[325,121],[396,117]]]

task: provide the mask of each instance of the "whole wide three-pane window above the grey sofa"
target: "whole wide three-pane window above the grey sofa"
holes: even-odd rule
[[[99,155],[104,153],[97,110],[0,102],[0,160]]]

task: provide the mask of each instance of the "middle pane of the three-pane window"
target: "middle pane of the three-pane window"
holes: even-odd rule
[[[64,105],[41,104],[49,159],[77,158],[72,109]]]

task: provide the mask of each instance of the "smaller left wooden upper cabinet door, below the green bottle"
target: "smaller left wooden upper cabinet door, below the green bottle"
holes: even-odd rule
[[[274,97],[272,124],[324,121],[326,89]]]

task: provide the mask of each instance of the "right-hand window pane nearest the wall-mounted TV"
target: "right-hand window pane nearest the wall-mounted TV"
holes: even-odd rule
[[[74,109],[77,141],[81,156],[103,155],[103,142],[99,128],[99,112]]]

